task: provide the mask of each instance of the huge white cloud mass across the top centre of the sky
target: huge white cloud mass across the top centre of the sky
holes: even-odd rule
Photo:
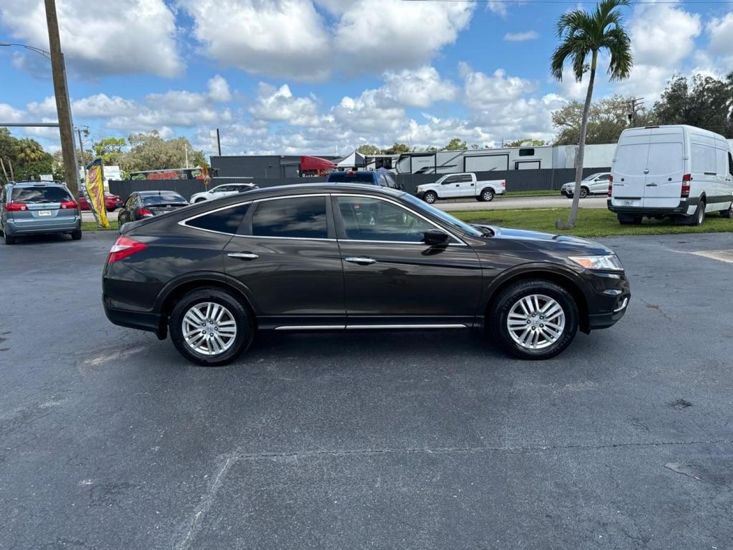
[[[416,68],[468,26],[465,2],[179,0],[202,52],[249,73],[322,80],[334,71]],[[375,23],[377,17],[378,23]],[[212,29],[216,29],[213,32]]]

